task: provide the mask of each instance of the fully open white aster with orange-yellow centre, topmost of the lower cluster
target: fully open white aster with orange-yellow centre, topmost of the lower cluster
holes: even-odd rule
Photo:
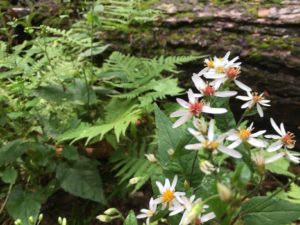
[[[169,179],[165,180],[165,185],[162,185],[159,181],[156,181],[156,185],[159,189],[161,196],[155,200],[157,204],[162,203],[163,209],[167,206],[172,207],[180,198],[185,195],[184,192],[176,192],[175,187],[177,184],[178,177],[177,175],[174,177],[172,185]]]

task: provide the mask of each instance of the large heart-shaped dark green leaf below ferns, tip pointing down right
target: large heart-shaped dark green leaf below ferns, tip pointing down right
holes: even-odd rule
[[[97,162],[86,157],[61,163],[56,170],[61,187],[76,196],[106,204]]]

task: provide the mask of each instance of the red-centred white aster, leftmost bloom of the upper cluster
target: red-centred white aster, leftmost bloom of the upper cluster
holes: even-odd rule
[[[184,107],[185,109],[177,110],[171,113],[170,117],[180,117],[174,124],[173,128],[179,127],[189,119],[195,116],[199,116],[203,113],[211,114],[222,114],[226,113],[227,109],[224,108],[212,108],[204,103],[204,101],[199,101],[197,96],[193,93],[191,89],[188,90],[188,99],[189,102],[186,102],[183,99],[177,98],[177,102]]]

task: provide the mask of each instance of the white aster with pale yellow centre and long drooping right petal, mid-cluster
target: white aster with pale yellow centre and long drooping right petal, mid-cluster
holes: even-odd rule
[[[199,150],[201,148],[208,149],[215,153],[216,151],[220,151],[222,153],[225,153],[227,155],[230,155],[234,158],[241,158],[242,155],[238,151],[234,150],[233,148],[229,148],[223,145],[223,141],[226,137],[225,134],[219,135],[215,137],[214,134],[214,126],[215,126],[215,121],[211,120],[209,122],[209,127],[208,127],[208,132],[207,132],[207,138],[204,137],[203,134],[200,132],[189,128],[189,132],[194,135],[200,143],[197,144],[189,144],[186,145],[185,148],[188,150]]]

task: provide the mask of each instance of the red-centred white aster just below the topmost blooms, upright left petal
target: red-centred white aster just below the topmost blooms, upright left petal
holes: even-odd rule
[[[231,97],[237,94],[236,91],[218,91],[220,84],[218,83],[208,83],[204,82],[202,78],[195,74],[192,76],[192,80],[200,92],[200,94],[196,94],[197,97],[203,96],[216,96],[216,97]]]

